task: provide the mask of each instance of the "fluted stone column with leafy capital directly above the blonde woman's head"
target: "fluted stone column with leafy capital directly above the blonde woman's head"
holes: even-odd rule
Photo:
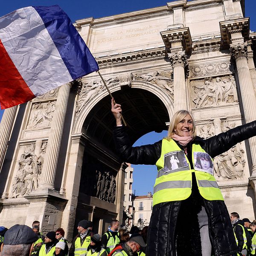
[[[188,68],[188,61],[186,53],[174,52],[168,54],[173,68],[173,90],[174,90],[174,111],[181,109],[188,109],[186,101],[186,71]]]

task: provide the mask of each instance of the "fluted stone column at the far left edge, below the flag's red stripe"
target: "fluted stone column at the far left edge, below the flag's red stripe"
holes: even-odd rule
[[[18,106],[7,108],[3,112],[3,117],[0,123],[0,171],[5,158],[8,140],[12,131],[12,126],[15,122],[15,116]]]

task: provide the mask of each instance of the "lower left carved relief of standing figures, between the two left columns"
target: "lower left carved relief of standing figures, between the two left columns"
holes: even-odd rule
[[[37,140],[25,147],[12,185],[10,198],[21,198],[38,188],[47,143]]]

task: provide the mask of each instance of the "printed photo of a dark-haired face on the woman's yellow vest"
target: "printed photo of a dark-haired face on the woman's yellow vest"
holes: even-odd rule
[[[204,152],[194,152],[195,170],[200,172],[207,172],[213,175],[213,163],[209,154]]]

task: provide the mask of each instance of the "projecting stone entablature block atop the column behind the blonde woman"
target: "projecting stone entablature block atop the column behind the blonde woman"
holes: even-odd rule
[[[172,51],[191,53],[192,39],[189,28],[170,29],[160,32],[166,48]]]

